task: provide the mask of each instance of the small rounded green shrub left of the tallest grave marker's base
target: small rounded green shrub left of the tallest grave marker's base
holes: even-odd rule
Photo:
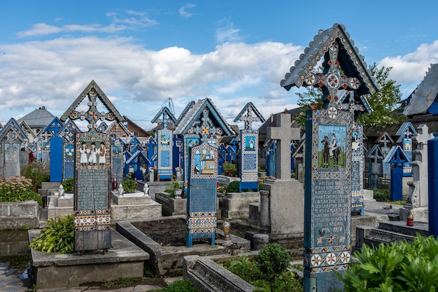
[[[274,280],[285,272],[290,265],[290,253],[280,244],[272,243],[255,255],[255,261],[269,280]]]

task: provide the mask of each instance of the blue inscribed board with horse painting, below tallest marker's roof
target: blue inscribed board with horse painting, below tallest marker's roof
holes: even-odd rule
[[[350,263],[352,126],[353,113],[334,106],[307,112],[304,291],[342,289],[334,272]]]

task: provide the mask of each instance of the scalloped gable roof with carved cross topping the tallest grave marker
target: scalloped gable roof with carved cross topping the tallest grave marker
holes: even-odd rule
[[[315,71],[320,61],[324,61],[323,73]],[[368,112],[372,109],[365,97],[379,90],[379,85],[367,69],[364,57],[354,46],[345,26],[337,23],[330,29],[318,32],[280,84],[285,90],[293,86],[321,87],[330,104],[336,103],[342,109],[348,109],[348,104],[342,107],[346,96],[341,95],[339,90],[349,90],[354,96],[348,97],[348,103],[353,106],[360,104],[360,110],[366,109]],[[355,109],[350,107],[349,110]]]

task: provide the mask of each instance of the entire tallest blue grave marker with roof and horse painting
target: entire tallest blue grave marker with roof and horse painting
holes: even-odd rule
[[[321,60],[323,71],[314,71]],[[286,90],[302,85],[322,88],[324,103],[306,114],[304,291],[343,290],[334,271],[351,258],[353,117],[372,111],[366,96],[379,87],[337,23],[318,32],[281,81]]]

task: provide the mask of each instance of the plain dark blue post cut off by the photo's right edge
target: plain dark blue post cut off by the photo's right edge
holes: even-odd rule
[[[428,141],[429,235],[438,237],[438,137]]]

